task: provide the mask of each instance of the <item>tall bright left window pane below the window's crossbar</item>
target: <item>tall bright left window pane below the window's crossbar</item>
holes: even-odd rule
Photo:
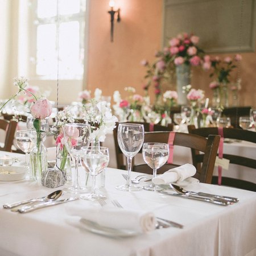
[[[56,25],[40,25],[37,32],[36,73],[42,76],[56,76]]]

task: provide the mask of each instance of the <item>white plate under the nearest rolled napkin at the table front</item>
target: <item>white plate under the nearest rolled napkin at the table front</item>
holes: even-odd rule
[[[113,229],[113,228],[108,228],[106,226],[101,226],[101,225],[98,225],[96,222],[85,220],[84,218],[81,218],[80,222],[82,224],[82,228],[90,232],[100,234],[101,236],[131,237],[131,236],[137,236],[139,234],[138,232],[135,232],[133,230]]]

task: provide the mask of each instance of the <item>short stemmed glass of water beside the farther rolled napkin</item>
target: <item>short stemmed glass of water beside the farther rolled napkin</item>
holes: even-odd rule
[[[144,143],[142,155],[146,164],[153,169],[153,178],[156,177],[156,170],[162,167],[169,157],[169,145],[167,143]],[[150,191],[162,190],[159,185],[150,184],[143,187]]]

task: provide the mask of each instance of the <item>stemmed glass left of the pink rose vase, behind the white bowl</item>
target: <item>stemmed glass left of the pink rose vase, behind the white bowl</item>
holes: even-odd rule
[[[28,167],[29,166],[28,154],[31,151],[32,147],[35,146],[35,140],[31,139],[28,131],[19,130],[19,131],[16,131],[15,142],[16,142],[16,145],[19,147],[19,149],[26,154],[25,163],[26,163],[26,167]]]

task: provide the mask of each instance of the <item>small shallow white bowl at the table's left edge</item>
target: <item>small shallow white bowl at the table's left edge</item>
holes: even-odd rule
[[[0,181],[23,180],[27,175],[28,169],[22,166],[1,166]]]

